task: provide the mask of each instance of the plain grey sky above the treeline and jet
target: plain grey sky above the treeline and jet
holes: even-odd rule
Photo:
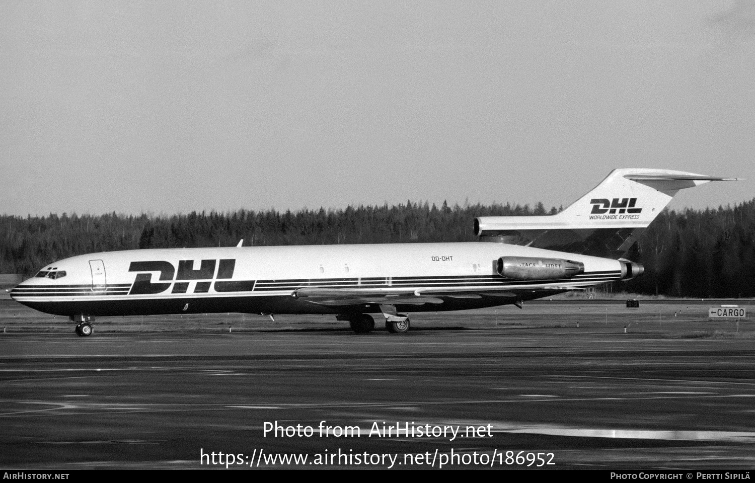
[[[744,177],[755,2],[0,2],[0,213],[569,205]]]

